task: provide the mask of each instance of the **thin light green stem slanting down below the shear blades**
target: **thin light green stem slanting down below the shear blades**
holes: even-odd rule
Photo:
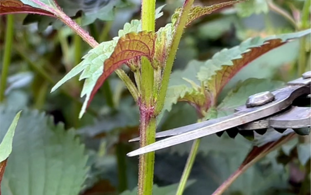
[[[188,156],[186,166],[184,171],[182,172],[182,176],[180,178],[180,182],[177,188],[176,195],[182,195],[186,188],[186,183],[189,178],[191,169],[193,167],[194,160],[196,159],[196,154],[198,152],[199,146],[200,146],[201,139],[196,139],[193,141],[193,144],[191,146],[190,154]]]

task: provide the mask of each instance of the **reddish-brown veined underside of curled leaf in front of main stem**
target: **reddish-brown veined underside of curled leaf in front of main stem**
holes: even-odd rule
[[[122,64],[126,64],[129,60],[140,56],[146,56],[151,60],[154,54],[155,39],[154,32],[145,31],[139,33],[131,32],[121,37],[111,56],[104,62],[104,72],[98,78],[87,106],[106,78]]]

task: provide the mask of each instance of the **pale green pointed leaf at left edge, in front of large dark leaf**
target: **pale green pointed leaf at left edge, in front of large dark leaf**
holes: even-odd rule
[[[12,142],[13,142],[13,136],[15,133],[16,125],[18,122],[19,117],[21,116],[21,111],[19,111],[16,116],[14,117],[12,124],[10,125],[9,129],[7,130],[7,133],[4,135],[2,142],[0,144],[0,162],[4,161],[9,157],[9,155],[12,152]]]

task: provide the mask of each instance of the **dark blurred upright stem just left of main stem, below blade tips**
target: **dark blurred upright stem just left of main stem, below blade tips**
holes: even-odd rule
[[[127,189],[127,176],[126,176],[126,148],[125,144],[116,144],[117,164],[118,164],[118,178],[119,178],[119,193]]]

